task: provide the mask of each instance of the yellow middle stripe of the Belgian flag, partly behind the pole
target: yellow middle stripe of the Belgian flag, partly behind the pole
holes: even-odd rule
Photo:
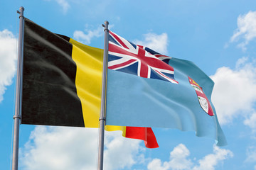
[[[82,115],[86,128],[99,128],[100,91],[102,84],[103,50],[83,45],[70,38],[73,44],[72,58],[77,64],[75,86],[82,103]],[[105,130],[122,130],[125,137],[126,127],[105,126]]]

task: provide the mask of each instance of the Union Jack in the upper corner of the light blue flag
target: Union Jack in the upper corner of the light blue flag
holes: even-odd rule
[[[134,45],[110,31],[108,68],[148,79],[161,79],[178,84],[171,57],[161,55],[142,45]]]

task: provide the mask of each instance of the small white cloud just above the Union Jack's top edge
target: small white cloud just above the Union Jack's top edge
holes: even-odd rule
[[[162,33],[157,35],[155,33],[144,34],[144,40],[134,40],[137,45],[143,45],[151,48],[152,50],[161,53],[162,55],[167,55],[167,45],[168,45],[168,35]]]

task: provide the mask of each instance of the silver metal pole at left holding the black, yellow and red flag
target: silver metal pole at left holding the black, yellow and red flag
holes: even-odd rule
[[[18,33],[18,62],[17,62],[17,79],[16,79],[16,101],[14,115],[14,146],[12,170],[18,169],[18,135],[19,125],[21,120],[21,96],[22,96],[22,74],[23,74],[23,16],[24,8],[21,6],[20,11],[17,11],[20,16],[19,33]]]

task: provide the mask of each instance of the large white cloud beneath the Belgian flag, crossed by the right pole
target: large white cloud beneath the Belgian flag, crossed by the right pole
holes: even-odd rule
[[[119,132],[105,135],[105,169],[132,166],[139,155],[139,140],[124,139]],[[21,148],[21,168],[26,170],[97,169],[98,129],[37,126]]]

